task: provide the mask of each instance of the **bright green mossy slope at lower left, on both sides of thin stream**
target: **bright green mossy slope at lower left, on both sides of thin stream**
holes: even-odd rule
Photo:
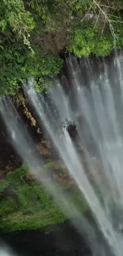
[[[5,232],[37,229],[66,219],[43,187],[28,178],[25,166],[0,181],[0,192],[0,228]],[[81,212],[88,209],[78,191],[69,189],[67,196]]]

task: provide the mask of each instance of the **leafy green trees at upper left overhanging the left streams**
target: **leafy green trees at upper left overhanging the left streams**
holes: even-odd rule
[[[42,5],[41,1],[28,1],[28,4],[32,10],[38,12],[40,8],[43,10],[43,1]],[[43,12],[37,15],[42,16],[43,20]],[[49,17],[48,13],[46,15]],[[34,43],[35,33],[30,37],[30,32],[35,27],[34,20],[36,20],[35,13],[31,8],[26,10],[22,0],[2,1],[0,5],[0,96],[16,94],[21,82],[26,81],[30,76],[35,77],[36,88],[41,91],[46,86],[44,77],[55,75],[62,66],[62,60],[57,55],[44,52]]]

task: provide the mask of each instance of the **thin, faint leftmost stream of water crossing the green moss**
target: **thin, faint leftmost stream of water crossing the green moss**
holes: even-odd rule
[[[68,198],[63,188],[61,188],[55,180],[49,180],[48,178],[50,174],[48,175],[46,174],[46,170],[42,170],[44,163],[41,158],[37,158],[36,154],[34,154],[33,151],[34,149],[36,151],[36,147],[24,128],[16,108],[9,98],[7,98],[7,101],[5,99],[0,100],[0,106],[0,111],[7,126],[8,133],[12,139],[12,144],[23,159],[23,162],[27,163],[31,174],[41,182],[41,184],[43,183],[46,191],[53,196],[56,203],[63,209],[67,216],[71,218],[71,221],[80,234],[85,234],[85,238],[89,241],[90,247],[92,248],[93,255],[99,255],[100,246],[98,245],[95,231],[85,217],[81,216],[81,213],[76,206],[71,203],[70,198]],[[10,253],[10,250],[6,251],[4,247],[0,248],[0,251],[3,256],[13,256],[13,253]],[[106,256],[103,247],[101,256]]]

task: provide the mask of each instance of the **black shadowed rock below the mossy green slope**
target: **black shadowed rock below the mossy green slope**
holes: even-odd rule
[[[1,234],[1,240],[21,256],[91,255],[87,244],[69,220],[43,229]]]

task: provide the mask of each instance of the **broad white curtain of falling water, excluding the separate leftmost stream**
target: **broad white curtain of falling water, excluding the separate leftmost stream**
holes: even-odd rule
[[[120,66],[119,68],[121,62],[119,62],[117,56],[115,56],[115,58],[117,58],[117,62],[113,67],[115,70],[118,69],[118,71],[121,73],[122,67]],[[99,81],[99,79],[97,78],[95,80],[95,76],[92,76],[91,72],[91,77],[89,78],[89,80],[91,80],[91,86],[88,90],[83,88],[79,83],[79,80],[76,77],[78,74],[77,62],[75,63],[75,71],[74,63],[74,61],[72,63],[72,59],[70,59],[70,61],[67,60],[67,64],[71,65],[69,70],[72,70],[72,78],[74,77],[75,83],[74,86],[78,88],[78,90],[76,90],[76,95],[74,95],[74,97],[76,97],[77,106],[79,107],[79,109],[81,109],[81,113],[83,114],[83,123],[85,122],[85,126],[87,128],[89,127],[91,136],[95,143],[95,147],[97,148],[98,157],[100,159],[102,167],[102,170],[100,170],[100,174],[102,175],[102,178],[106,180],[109,188],[111,188],[109,198],[112,202],[112,205],[114,204],[114,207],[118,207],[118,211],[120,208],[120,215],[122,214],[123,216],[123,175],[121,171],[123,164],[123,160],[121,157],[123,155],[123,144],[121,140],[121,134],[119,133],[119,127],[116,118],[116,110],[114,106],[115,95],[113,95],[113,89],[111,87],[109,80],[109,73],[113,72],[113,70],[110,70],[110,68],[107,69],[107,65],[104,64],[104,73],[99,75],[99,79],[101,79],[101,81]],[[81,65],[81,63],[79,65]],[[80,70],[81,68],[78,66],[78,71],[80,72]],[[118,72],[116,72],[116,76],[116,80],[121,79],[121,76],[118,77]],[[115,84],[113,86],[115,87]],[[121,86],[121,81],[119,81],[119,86]],[[56,91],[54,88],[55,86],[52,86],[50,88],[49,96],[51,97],[52,101],[54,101],[54,105],[56,106],[59,112],[60,119],[63,120],[63,114],[54,96],[55,93],[56,95],[58,95],[58,90],[59,94],[61,95],[60,100],[61,102],[63,102],[62,105],[65,109],[65,113],[68,113],[67,116],[69,119],[73,118],[74,114],[71,114],[71,104],[70,102],[68,102],[68,98],[65,96],[63,89],[60,88],[60,83],[58,83],[58,85],[56,86]],[[28,86],[24,87],[24,90],[25,94],[28,95],[29,100],[36,109],[36,112],[40,118],[41,123],[44,123],[45,128],[47,129],[52,139],[52,142],[54,143],[59,154],[61,155],[61,159],[63,159],[64,163],[66,164],[69,173],[72,175],[72,177],[74,177],[74,180],[78,184],[80,191],[84,194],[87,202],[89,203],[89,206],[95,216],[95,219],[103,235],[106,237],[108,243],[110,244],[114,252],[114,255],[123,255],[122,235],[118,231],[118,229],[114,228],[114,219],[110,215],[112,214],[112,212],[109,205],[109,199],[107,199],[108,195],[104,192],[104,189],[101,187],[100,193],[102,193],[102,198],[105,196],[103,199],[104,205],[102,206],[98,195],[95,193],[94,188],[92,187],[88,177],[86,176],[86,170],[84,169],[84,166],[81,163],[80,156],[78,155],[76,147],[71,141],[68,132],[66,130],[63,130],[63,136],[57,136],[54,127],[50,126],[50,119],[47,119],[44,106],[42,106],[41,101],[38,100],[37,104],[37,99],[41,98],[42,96],[41,94],[35,92],[33,83],[29,83]],[[67,106],[69,106],[69,108]],[[51,115],[51,118],[53,118],[53,114]],[[79,129],[78,131],[78,136],[80,138],[80,141],[82,141],[81,138],[84,137],[84,133],[82,133],[81,129]],[[86,159],[89,159],[89,161],[91,162],[91,154],[89,153],[89,147],[87,147],[88,150],[86,148],[86,136],[84,139],[84,145],[85,153],[88,152],[88,154],[85,154],[86,156],[88,155]],[[101,179],[96,178],[96,175],[94,175],[96,174],[94,168],[90,169],[93,173],[93,179],[95,179],[97,185],[100,186]],[[107,192],[109,192],[108,189]],[[118,200],[118,198],[119,202],[116,201]],[[115,221],[118,222],[118,226],[120,225],[121,221],[119,217],[121,218],[121,216],[118,216],[118,213],[116,213],[116,216],[114,218],[116,219]]]

